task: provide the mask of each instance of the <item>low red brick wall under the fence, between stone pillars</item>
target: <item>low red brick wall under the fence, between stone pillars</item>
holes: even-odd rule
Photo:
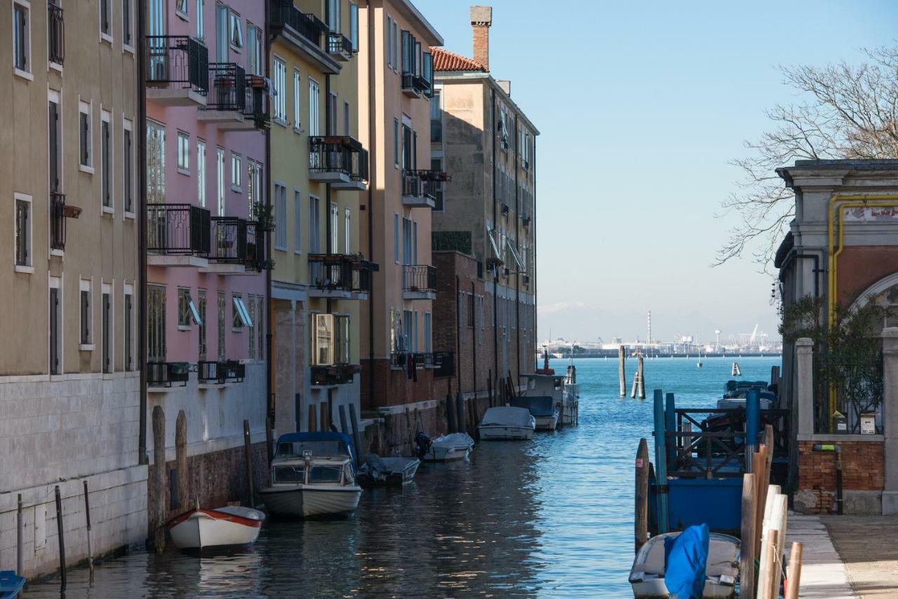
[[[833,452],[815,452],[814,441],[798,442],[797,493],[806,511],[834,514],[836,459]],[[882,491],[885,487],[884,445],[880,441],[844,441],[841,446],[842,492]]]

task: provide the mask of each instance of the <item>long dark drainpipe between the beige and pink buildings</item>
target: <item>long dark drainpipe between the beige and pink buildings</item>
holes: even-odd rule
[[[140,419],[137,462],[146,455],[146,13],[137,3],[137,368],[140,371]]]

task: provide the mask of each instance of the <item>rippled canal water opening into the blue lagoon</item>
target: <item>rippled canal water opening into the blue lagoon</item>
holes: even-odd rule
[[[739,359],[749,380],[769,379],[778,363]],[[662,388],[683,407],[708,406],[731,365],[647,360],[647,394]],[[92,584],[73,570],[66,596],[632,596],[633,460],[651,435],[651,400],[618,396],[614,359],[577,361],[577,378],[577,428],[481,444],[470,462],[422,464],[406,489],[366,491],[348,520],[269,521],[244,552],[132,552],[101,564]],[[57,589],[49,580],[25,596]]]

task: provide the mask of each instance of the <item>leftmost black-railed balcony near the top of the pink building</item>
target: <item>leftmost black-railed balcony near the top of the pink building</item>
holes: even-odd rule
[[[146,36],[146,99],[165,106],[206,106],[209,51],[187,36]]]

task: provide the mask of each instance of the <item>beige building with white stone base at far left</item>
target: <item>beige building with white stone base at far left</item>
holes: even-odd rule
[[[138,465],[136,13],[132,0],[0,11],[0,564],[57,568],[146,536]]]

